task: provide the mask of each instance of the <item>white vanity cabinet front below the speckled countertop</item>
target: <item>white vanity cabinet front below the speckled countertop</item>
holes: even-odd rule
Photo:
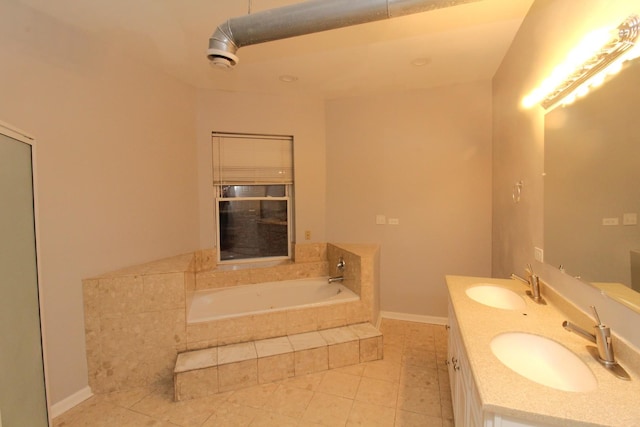
[[[449,304],[448,344],[447,365],[455,425],[482,426],[482,404],[451,304]]]

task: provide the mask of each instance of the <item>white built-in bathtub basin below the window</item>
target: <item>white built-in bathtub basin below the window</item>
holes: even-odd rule
[[[327,279],[328,277],[312,277],[196,291],[189,305],[187,323],[317,307],[360,299],[346,286],[339,282],[328,283]]]

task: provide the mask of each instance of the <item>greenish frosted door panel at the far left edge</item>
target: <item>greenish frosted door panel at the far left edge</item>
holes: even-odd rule
[[[0,126],[0,412],[5,426],[48,425],[31,149]]]

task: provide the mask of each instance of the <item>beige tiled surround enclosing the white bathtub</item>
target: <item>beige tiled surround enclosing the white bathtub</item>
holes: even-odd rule
[[[369,322],[378,318],[378,248],[298,245],[296,262],[254,270],[212,269],[198,251],[83,281],[89,385],[94,393],[127,390],[172,377],[178,353]],[[334,274],[344,256],[345,286],[360,301],[187,324],[196,289]]]

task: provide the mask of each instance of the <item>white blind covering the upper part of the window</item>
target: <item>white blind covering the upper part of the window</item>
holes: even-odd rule
[[[292,184],[293,139],[213,134],[213,183]]]

